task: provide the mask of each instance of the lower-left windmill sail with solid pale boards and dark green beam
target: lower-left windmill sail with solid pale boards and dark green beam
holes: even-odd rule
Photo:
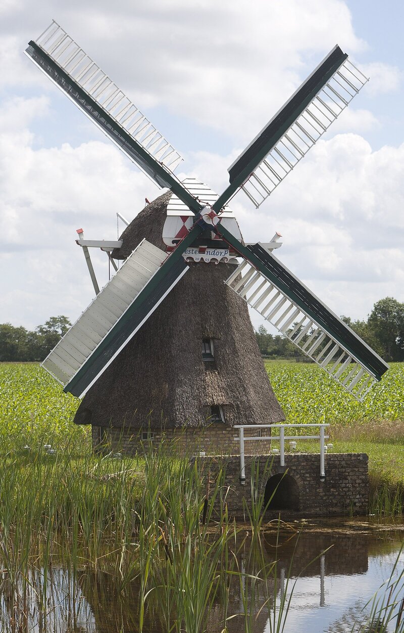
[[[187,272],[182,258],[143,240],[43,361],[80,398],[106,370],[168,292]]]

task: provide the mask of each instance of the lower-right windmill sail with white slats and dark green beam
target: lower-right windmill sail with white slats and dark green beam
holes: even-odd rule
[[[388,365],[281,262],[259,244],[245,248],[221,235],[243,258],[226,284],[307,356],[362,401]]]

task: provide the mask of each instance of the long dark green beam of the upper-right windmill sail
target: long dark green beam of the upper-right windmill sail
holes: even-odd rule
[[[245,166],[242,172],[240,172],[235,177],[233,182],[230,183],[227,189],[224,190],[223,194],[221,194],[221,196],[217,198],[216,202],[212,206],[213,210],[216,211],[216,213],[219,213],[219,211],[224,207],[224,205],[230,200],[231,196],[235,194],[237,189],[241,187],[244,184],[245,180],[247,180],[248,177],[252,174],[252,172],[254,172],[255,168],[258,165],[260,165],[260,163],[262,163],[264,158],[266,158],[266,156],[271,151],[272,147],[274,147],[274,145],[279,141],[279,139],[283,137],[283,135],[288,131],[291,125],[302,114],[303,110],[307,108],[309,103],[313,101],[316,94],[321,90],[321,88],[326,84],[326,82],[331,77],[333,77],[334,73],[338,70],[338,68],[340,68],[341,64],[344,63],[346,58],[348,58],[348,55],[345,53],[342,61],[339,60],[337,63],[331,66],[331,68],[325,75],[322,75],[321,80],[317,82],[317,84],[315,84],[315,87],[312,89],[309,95],[302,101],[302,103],[299,104],[299,107],[293,110],[293,113],[291,113],[291,115],[288,116],[285,122],[283,122],[279,126],[277,132],[275,134],[272,134],[269,141],[266,142],[264,147],[262,147],[262,149],[257,154],[255,154],[255,156],[250,160],[248,165]]]

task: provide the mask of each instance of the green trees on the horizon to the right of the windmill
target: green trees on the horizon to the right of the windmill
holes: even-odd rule
[[[341,318],[384,360],[404,361],[404,303],[386,297],[374,304],[367,320],[355,321],[350,316]],[[255,337],[263,356],[307,358],[289,339],[269,334],[263,325],[255,331]]]

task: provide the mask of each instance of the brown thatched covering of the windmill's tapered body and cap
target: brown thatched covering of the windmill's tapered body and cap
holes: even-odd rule
[[[171,192],[140,211],[121,235],[114,256],[128,256],[145,237],[163,248]],[[139,429],[209,423],[212,405],[225,422],[265,424],[285,416],[262,363],[247,305],[224,283],[234,266],[190,265],[132,341],[80,404],[75,422]],[[202,339],[214,339],[214,364],[202,358]]]

